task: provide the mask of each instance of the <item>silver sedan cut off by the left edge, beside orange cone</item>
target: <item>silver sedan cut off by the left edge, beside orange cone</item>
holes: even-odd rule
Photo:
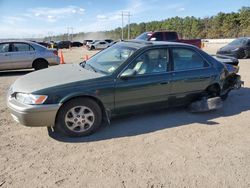
[[[48,49],[30,41],[0,42],[0,70],[39,70],[59,63],[60,58],[55,49]]]

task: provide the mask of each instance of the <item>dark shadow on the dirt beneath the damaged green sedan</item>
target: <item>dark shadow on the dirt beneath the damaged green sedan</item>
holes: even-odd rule
[[[60,142],[93,142],[112,138],[137,136],[172,127],[199,123],[216,126],[216,118],[238,115],[250,110],[250,88],[232,91],[223,103],[223,108],[206,113],[190,113],[185,108],[170,108],[154,112],[127,115],[111,120],[111,125],[102,126],[96,133],[80,138],[69,138],[48,129],[51,138]]]

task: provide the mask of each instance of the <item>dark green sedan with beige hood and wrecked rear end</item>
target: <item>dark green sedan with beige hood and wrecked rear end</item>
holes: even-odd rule
[[[240,81],[232,68],[187,44],[119,42],[86,62],[19,78],[7,105],[23,125],[85,136],[115,115],[225,99]]]

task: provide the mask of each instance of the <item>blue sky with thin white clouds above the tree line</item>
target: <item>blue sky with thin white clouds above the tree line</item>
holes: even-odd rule
[[[0,38],[111,30],[121,27],[122,11],[131,14],[131,23],[140,23],[175,16],[203,18],[243,6],[250,6],[250,0],[0,0]]]

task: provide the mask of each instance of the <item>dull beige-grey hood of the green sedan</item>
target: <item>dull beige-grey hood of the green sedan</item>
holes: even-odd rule
[[[33,93],[50,87],[95,79],[102,76],[104,74],[84,69],[79,64],[59,65],[22,76],[12,85],[12,91]]]

